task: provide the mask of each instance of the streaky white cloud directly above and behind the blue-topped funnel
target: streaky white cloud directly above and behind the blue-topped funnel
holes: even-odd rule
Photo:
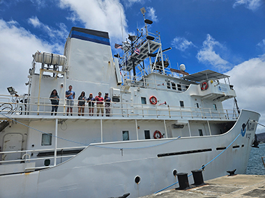
[[[85,28],[107,31],[111,38],[122,40],[127,35],[127,22],[123,6],[118,0],[61,0],[61,8],[70,8],[74,20],[79,19]]]

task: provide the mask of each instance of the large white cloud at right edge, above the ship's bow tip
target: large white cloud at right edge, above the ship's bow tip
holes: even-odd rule
[[[227,72],[236,90],[239,108],[257,111],[262,115],[259,123],[265,124],[265,55],[252,58]],[[265,132],[262,127],[258,133]]]

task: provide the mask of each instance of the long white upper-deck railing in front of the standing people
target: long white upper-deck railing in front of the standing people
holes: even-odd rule
[[[144,100],[145,99],[145,100]],[[188,106],[172,106],[167,104],[167,101],[158,101],[156,105],[146,104],[144,98],[142,103],[145,104],[135,104],[128,102],[110,102],[109,107],[104,107],[105,117],[128,117],[128,118],[158,118],[158,119],[237,119],[239,113],[236,110],[226,110],[222,108],[197,108]],[[39,103],[38,103],[39,101]],[[68,107],[73,107],[73,115],[84,115],[85,117],[92,118],[97,115],[97,106],[93,107],[93,113],[89,113],[88,103],[84,106],[84,113],[82,111],[79,113],[77,106],[78,100],[74,100],[74,106],[67,106],[64,104],[63,99],[59,99],[58,111],[53,112],[56,115],[64,116],[67,115],[66,110]],[[0,102],[0,106],[3,104],[10,106],[6,109],[0,108],[0,112],[5,115],[51,115],[52,104],[50,104],[50,98],[40,97],[30,97],[27,103],[21,101],[13,102]],[[109,113],[106,113],[106,109],[109,108]],[[101,111],[100,111],[101,116]],[[3,116],[1,116],[3,117]]]

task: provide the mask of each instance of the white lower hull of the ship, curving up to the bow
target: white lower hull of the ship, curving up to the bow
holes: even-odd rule
[[[175,183],[174,170],[190,174],[213,160],[234,139],[229,148],[206,165],[203,176],[213,179],[234,169],[244,174],[257,127],[251,120],[258,119],[258,113],[242,110],[234,127],[222,135],[91,144],[56,167],[0,176],[0,197],[149,195]],[[243,136],[242,124],[247,122]],[[135,183],[136,176],[140,177],[139,183]],[[189,180],[193,182],[192,176]]]

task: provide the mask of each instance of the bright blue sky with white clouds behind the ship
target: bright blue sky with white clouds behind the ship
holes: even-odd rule
[[[171,67],[229,74],[239,107],[265,115],[264,0],[0,0],[1,93],[10,85],[27,92],[31,55],[62,54],[72,26],[109,32],[118,52],[115,43],[144,27],[142,7],[162,49],[172,47]]]

